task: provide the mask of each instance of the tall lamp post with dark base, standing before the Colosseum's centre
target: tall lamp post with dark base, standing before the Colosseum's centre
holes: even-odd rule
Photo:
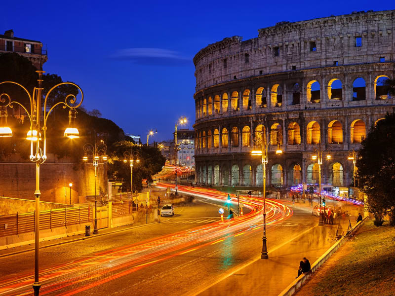
[[[270,142],[267,142],[264,129],[258,132],[261,137],[256,137],[255,142],[257,145],[261,146],[261,150],[251,151],[251,155],[262,156],[262,169],[263,169],[263,237],[262,237],[262,253],[261,259],[268,259],[268,248],[266,245],[266,165],[268,164],[268,148]],[[279,131],[271,131],[269,136],[272,139],[273,135],[276,135],[277,149],[276,154],[281,154],[282,150],[280,147],[280,141],[282,139],[282,134]]]

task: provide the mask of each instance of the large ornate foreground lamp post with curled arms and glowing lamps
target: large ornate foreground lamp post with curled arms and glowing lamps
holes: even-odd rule
[[[74,139],[79,138],[79,131],[75,126],[76,122],[76,109],[81,105],[83,101],[83,93],[81,88],[72,82],[62,82],[53,86],[48,90],[45,97],[42,94],[42,74],[45,72],[42,70],[36,71],[39,75],[38,87],[33,89],[32,94],[21,84],[14,81],[3,81],[0,84],[10,83],[17,85],[23,89],[27,94],[30,101],[30,106],[25,107],[17,101],[13,101],[7,93],[0,93],[0,137],[12,137],[12,131],[7,125],[7,107],[13,108],[14,104],[19,105],[30,120],[30,130],[28,131],[26,139],[30,141],[30,160],[36,163],[36,190],[34,192],[36,200],[36,210],[35,210],[35,270],[34,270],[34,284],[33,290],[34,295],[38,296],[40,294],[40,280],[39,280],[39,243],[40,243],[40,164],[44,163],[47,159],[46,155],[46,130],[47,130],[47,120],[49,114],[54,110],[55,107],[62,105],[63,108],[69,108],[69,126],[64,132],[64,137]],[[64,102],[55,103],[49,110],[47,108],[47,100],[50,93],[57,87],[63,84],[70,84],[75,86],[81,93],[81,99],[78,102],[77,97],[73,94],[66,96]],[[43,104],[42,104],[43,100]],[[42,116],[42,118],[41,118]],[[41,138],[41,130],[43,137]]]

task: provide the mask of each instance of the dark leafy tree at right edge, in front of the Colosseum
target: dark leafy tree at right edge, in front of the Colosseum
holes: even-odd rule
[[[372,126],[358,154],[358,187],[368,196],[369,211],[380,224],[389,210],[395,225],[395,113]]]

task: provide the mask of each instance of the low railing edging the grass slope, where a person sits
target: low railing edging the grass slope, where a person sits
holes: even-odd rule
[[[354,228],[345,236],[343,236],[340,240],[338,240],[332,247],[329,248],[320,258],[313,263],[311,270],[312,272],[302,274],[298,279],[294,280],[288,287],[286,287],[278,296],[292,296],[294,295],[308,280],[308,278],[319,268],[322,264],[329,259],[343,243],[346,241],[348,236],[353,236],[359,227],[366,221],[367,218],[364,218],[362,221],[356,223]]]

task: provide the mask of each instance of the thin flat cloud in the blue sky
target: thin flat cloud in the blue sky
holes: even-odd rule
[[[183,66],[192,64],[192,59],[177,51],[163,48],[125,48],[111,56],[112,59],[129,60],[140,65]]]

